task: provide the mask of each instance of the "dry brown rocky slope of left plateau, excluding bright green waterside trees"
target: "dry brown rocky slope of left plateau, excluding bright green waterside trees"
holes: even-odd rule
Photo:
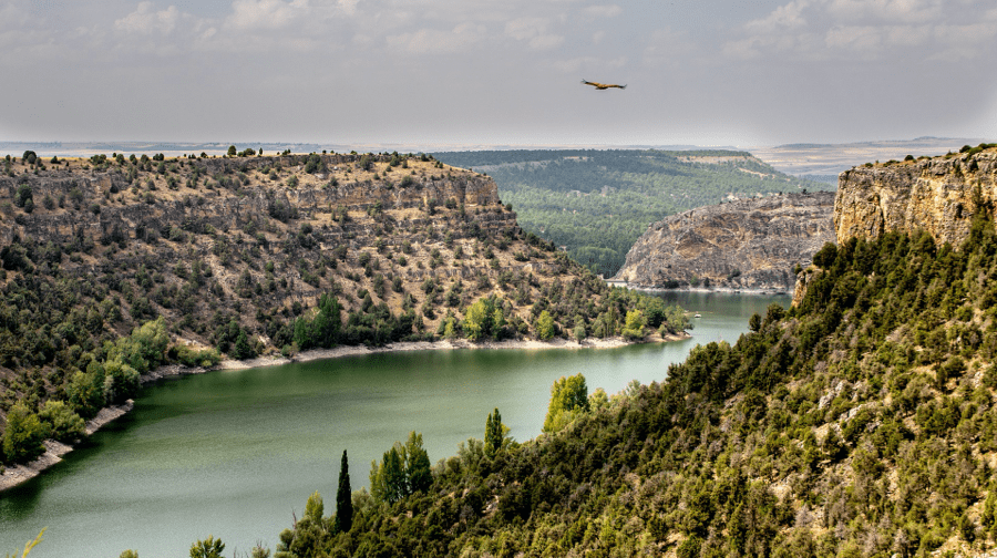
[[[431,157],[25,154],[0,166],[0,390],[13,371],[72,370],[158,317],[195,345],[226,352],[243,335],[244,353],[294,350],[298,318],[325,293],[356,333],[343,342],[431,337],[492,293],[525,333],[548,286],[583,279],[520,229],[491,178]]]

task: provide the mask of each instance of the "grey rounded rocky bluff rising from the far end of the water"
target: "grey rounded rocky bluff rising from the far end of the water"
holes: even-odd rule
[[[614,279],[645,288],[791,291],[795,265],[805,267],[834,241],[833,205],[830,192],[788,194],[670,216],[634,244]]]

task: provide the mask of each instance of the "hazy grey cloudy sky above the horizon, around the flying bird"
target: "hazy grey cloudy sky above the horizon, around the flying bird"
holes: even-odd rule
[[[997,140],[993,0],[0,0],[0,141]]]

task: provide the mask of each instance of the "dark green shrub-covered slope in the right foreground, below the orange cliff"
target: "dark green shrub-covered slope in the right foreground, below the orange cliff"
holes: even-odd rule
[[[696,349],[660,383],[586,399],[580,376],[557,382],[552,427],[533,441],[502,438],[490,415],[484,442],[410,485],[418,467],[380,484],[389,451],[378,489],[353,494],[350,529],[316,495],[306,509],[319,513],[285,530],[275,556],[993,550],[997,232],[993,206],[970,209],[955,247],[855,219],[874,234],[814,255],[793,308],[756,314],[736,344]]]

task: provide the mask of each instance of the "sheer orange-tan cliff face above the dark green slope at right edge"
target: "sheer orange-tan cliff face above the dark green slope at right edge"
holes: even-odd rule
[[[926,230],[959,244],[973,214],[997,204],[997,149],[855,167],[839,178],[834,228],[839,242],[884,231]],[[989,209],[988,209],[989,208]]]

